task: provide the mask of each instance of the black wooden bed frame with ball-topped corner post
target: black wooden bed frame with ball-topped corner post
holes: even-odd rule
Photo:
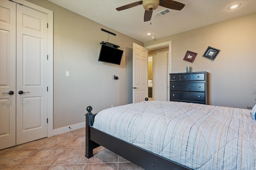
[[[87,109],[86,109],[87,110]],[[87,110],[88,111],[88,110]],[[90,111],[86,116],[86,132],[85,132],[85,156],[91,158],[93,149],[98,146],[103,146],[108,150],[122,156],[130,162],[142,167],[145,170],[188,170],[181,164],[172,162],[166,158],[156,155],[152,152],[139,148],[133,144],[118,139],[112,135],[106,134],[92,127],[94,117]]]

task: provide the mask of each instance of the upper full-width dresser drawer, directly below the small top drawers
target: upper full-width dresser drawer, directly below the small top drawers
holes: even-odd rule
[[[204,83],[170,82],[170,91],[205,91]]]

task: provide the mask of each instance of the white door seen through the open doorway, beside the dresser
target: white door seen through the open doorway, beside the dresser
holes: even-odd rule
[[[167,101],[167,53],[153,57],[153,99]]]

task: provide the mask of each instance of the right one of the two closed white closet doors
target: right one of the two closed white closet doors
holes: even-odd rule
[[[47,136],[47,14],[17,4],[16,34],[16,144],[22,144]]]

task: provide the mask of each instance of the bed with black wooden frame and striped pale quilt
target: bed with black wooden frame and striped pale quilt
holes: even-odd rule
[[[172,101],[89,110],[85,156],[102,145],[146,170],[256,169],[251,112]]]

